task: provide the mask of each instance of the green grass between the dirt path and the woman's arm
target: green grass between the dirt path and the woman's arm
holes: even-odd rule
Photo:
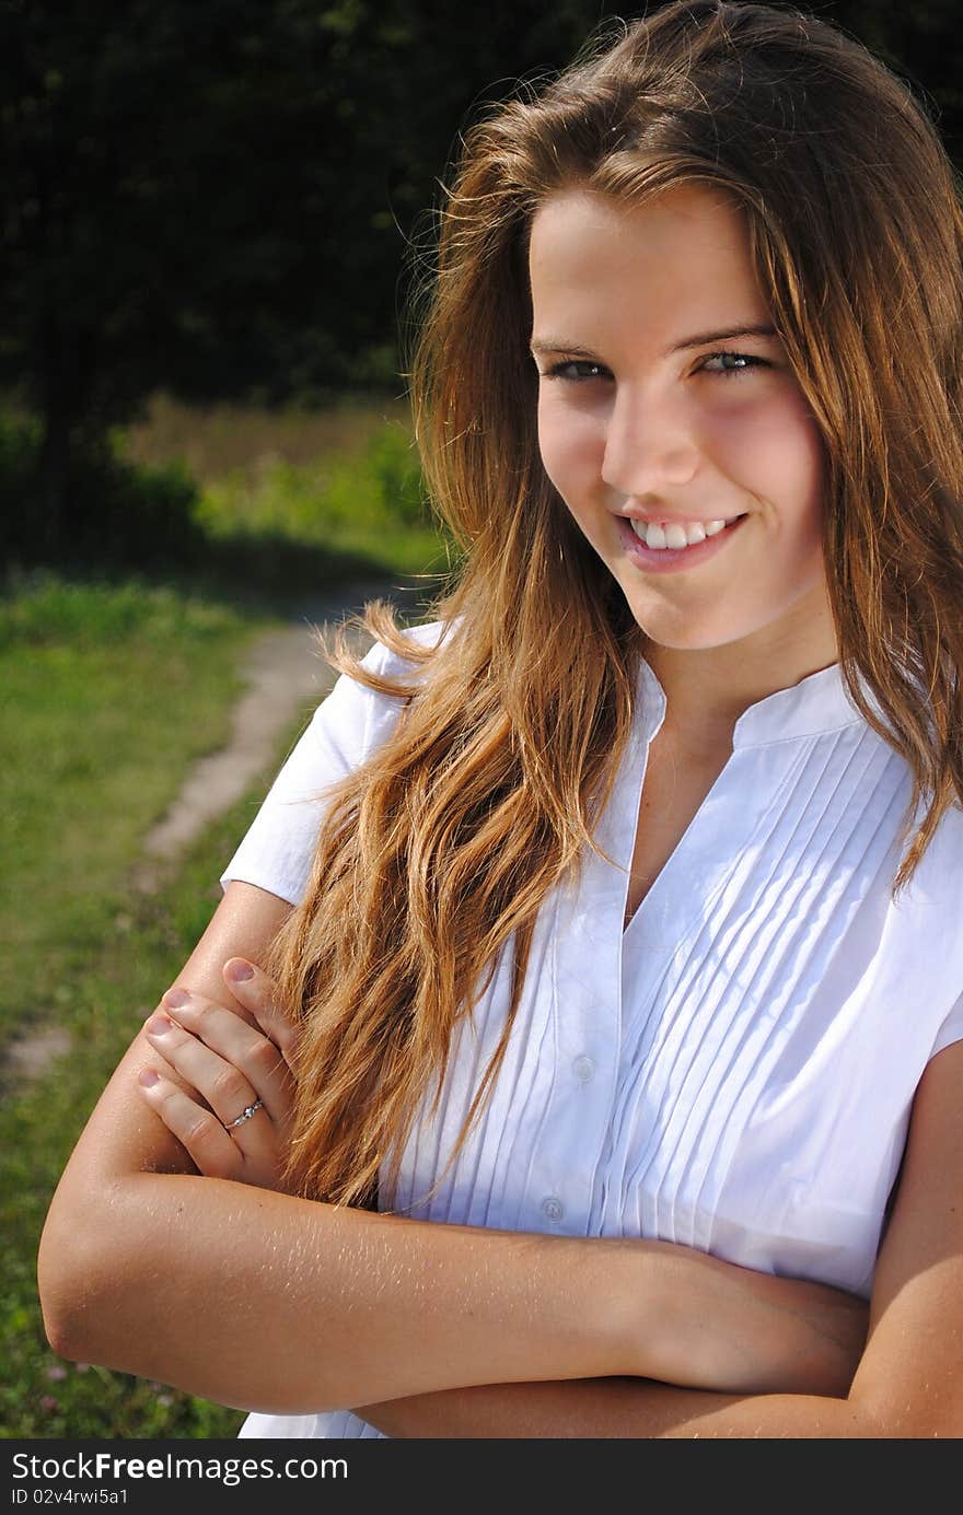
[[[70,982],[73,1050],[0,1106],[3,1436],[232,1438],[244,1420],[168,1385],[59,1359],[42,1332],[35,1260],[67,1156],[159,989],[211,918],[217,879],[265,782],[199,839],[159,894],[129,900],[114,920],[105,912],[100,941]]]

